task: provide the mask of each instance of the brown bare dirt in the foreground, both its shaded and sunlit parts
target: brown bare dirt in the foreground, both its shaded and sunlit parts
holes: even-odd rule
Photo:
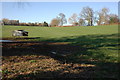
[[[114,73],[99,73],[101,66],[91,63],[92,60],[80,62],[87,61],[82,55],[75,57],[75,53],[86,50],[81,46],[64,42],[12,42],[3,43],[1,47],[3,80],[115,77]]]

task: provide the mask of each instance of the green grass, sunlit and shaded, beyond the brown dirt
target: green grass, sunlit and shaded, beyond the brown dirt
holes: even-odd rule
[[[69,42],[70,45],[78,45],[84,49],[76,52],[73,56],[89,54],[86,55],[86,58],[117,61],[118,25],[84,27],[3,26],[3,38],[13,38],[11,32],[18,29],[28,31],[29,37],[38,37],[30,39],[32,41]]]

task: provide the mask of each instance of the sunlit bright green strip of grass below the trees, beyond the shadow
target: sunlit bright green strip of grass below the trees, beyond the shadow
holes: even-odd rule
[[[2,37],[12,37],[13,30],[23,29],[29,32],[29,37],[62,38],[82,35],[101,35],[118,33],[117,25],[84,26],[84,27],[38,27],[38,26],[3,26]]]

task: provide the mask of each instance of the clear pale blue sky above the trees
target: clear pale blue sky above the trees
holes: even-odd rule
[[[64,13],[68,20],[73,13],[78,16],[83,7],[94,11],[109,8],[109,13],[118,14],[117,2],[2,2],[2,17],[20,22],[48,22]],[[69,23],[67,23],[69,24]]]

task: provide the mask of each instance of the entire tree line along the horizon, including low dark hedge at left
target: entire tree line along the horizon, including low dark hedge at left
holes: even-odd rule
[[[59,13],[56,18],[53,18],[48,24],[43,23],[19,23],[19,20],[2,19],[4,25],[20,25],[20,26],[63,26],[69,22],[73,26],[94,26],[94,24],[112,24],[118,23],[117,14],[109,14],[109,8],[102,8],[100,11],[93,11],[89,6],[83,7],[79,14],[73,13],[67,20],[64,13]]]

